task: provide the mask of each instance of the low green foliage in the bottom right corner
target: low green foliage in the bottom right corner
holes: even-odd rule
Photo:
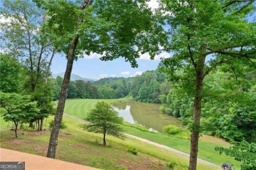
[[[241,169],[243,170],[256,169],[256,143],[236,142],[230,148],[216,147],[215,150],[242,161]]]

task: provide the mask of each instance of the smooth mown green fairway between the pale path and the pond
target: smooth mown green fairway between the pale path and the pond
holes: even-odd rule
[[[121,102],[128,100],[125,99],[113,99],[113,100],[104,100],[108,103]],[[102,99],[68,99],[66,100],[65,110],[67,114],[75,116],[77,118],[85,118],[86,113],[89,110],[93,109],[94,105],[97,101],[102,101]],[[146,131],[140,131],[139,129],[123,126],[125,133],[135,135],[137,137],[141,137],[144,139],[148,139],[150,141],[154,141],[156,143],[164,144],[171,148],[175,148],[177,150],[181,150],[182,152],[190,153],[190,141],[188,139],[181,139],[177,137],[170,137],[167,135],[162,135],[160,133],[150,133]],[[216,165],[222,165],[224,162],[230,162],[234,164],[236,169],[240,168],[240,162],[235,161],[233,158],[226,156],[225,154],[220,155],[219,152],[215,151],[215,146],[224,146],[228,147],[229,144],[226,143],[215,143],[209,141],[200,141],[199,142],[199,152],[198,157],[215,163]]]

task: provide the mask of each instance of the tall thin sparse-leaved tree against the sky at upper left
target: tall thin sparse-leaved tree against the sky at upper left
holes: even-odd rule
[[[38,84],[47,84],[55,54],[54,38],[46,24],[45,10],[39,9],[33,1],[7,0],[1,6],[1,18],[6,20],[0,24],[1,48],[26,66],[24,91],[36,93]],[[30,126],[33,126],[33,121]]]

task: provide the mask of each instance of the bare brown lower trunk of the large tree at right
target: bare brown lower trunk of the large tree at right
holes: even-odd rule
[[[198,141],[200,133],[200,118],[202,106],[202,92],[203,92],[203,65],[205,58],[198,61],[196,68],[196,89],[194,97],[194,110],[193,110],[193,125],[190,141],[190,160],[189,170],[195,170],[198,158]]]

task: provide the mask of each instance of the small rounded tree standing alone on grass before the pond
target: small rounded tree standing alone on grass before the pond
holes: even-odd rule
[[[106,145],[106,134],[112,135],[119,139],[124,139],[125,135],[121,133],[120,124],[123,118],[118,116],[118,113],[112,106],[104,101],[98,102],[95,109],[87,114],[85,120],[88,124],[83,125],[83,129],[94,133],[103,134],[103,144]]]

